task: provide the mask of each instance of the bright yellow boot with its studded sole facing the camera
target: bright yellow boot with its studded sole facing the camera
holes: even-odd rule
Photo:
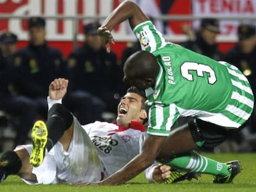
[[[32,128],[31,138],[33,143],[32,152],[30,154],[30,164],[38,167],[42,164],[45,157],[45,146],[47,143],[48,130],[45,122],[38,120]]]

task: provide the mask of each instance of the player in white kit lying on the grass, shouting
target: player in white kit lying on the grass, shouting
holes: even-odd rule
[[[61,105],[67,85],[65,79],[56,79],[49,85],[49,117],[46,123],[38,121],[33,127],[33,150],[28,144],[4,152],[0,158],[0,182],[12,174],[29,184],[100,181],[139,154],[145,136],[143,121],[147,119],[142,93],[135,88],[127,90],[118,106],[117,123],[94,122],[81,126]],[[36,151],[38,144],[45,145],[49,151],[45,158]],[[169,169],[166,165],[152,165],[145,172],[146,177],[150,182],[163,182],[169,178]]]

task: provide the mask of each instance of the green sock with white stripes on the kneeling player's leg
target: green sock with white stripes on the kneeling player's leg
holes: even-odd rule
[[[228,166],[226,164],[200,156],[200,154],[195,151],[187,156],[176,157],[167,165],[186,172],[206,173],[216,176],[229,175]]]

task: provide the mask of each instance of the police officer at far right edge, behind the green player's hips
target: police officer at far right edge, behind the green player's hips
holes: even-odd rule
[[[247,23],[241,23],[237,28],[238,42],[225,55],[224,61],[235,65],[240,69],[252,86],[254,95],[256,94],[256,35],[255,26]],[[241,151],[256,151],[256,112],[248,123],[247,132],[249,135],[236,135],[234,138],[240,146]],[[245,131],[242,133],[246,133]],[[247,136],[246,136],[247,135]],[[250,137],[250,141],[248,140]],[[249,143],[250,142],[250,143]],[[242,143],[242,144],[241,144]]]

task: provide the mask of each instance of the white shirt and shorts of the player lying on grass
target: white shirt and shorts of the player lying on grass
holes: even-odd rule
[[[56,101],[48,99],[49,108],[54,103]],[[139,122],[131,122],[130,128],[108,122],[82,126],[74,117],[74,135],[69,150],[64,151],[62,144],[56,143],[46,154],[43,164],[33,167],[37,182],[23,180],[28,184],[98,182],[139,154],[145,134]],[[20,147],[31,153],[31,145]],[[150,182],[156,165],[145,171]]]

